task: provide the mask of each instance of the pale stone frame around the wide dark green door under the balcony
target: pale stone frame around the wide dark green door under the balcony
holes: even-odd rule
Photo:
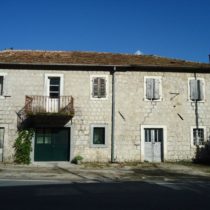
[[[31,154],[30,154],[30,158],[31,158],[31,163],[32,164],[36,164],[36,163],[59,163],[59,162],[71,162],[72,161],[72,152],[73,152],[73,126],[65,126],[65,127],[60,127],[60,128],[69,128],[69,132],[70,132],[70,135],[69,135],[69,161],[35,161],[34,160],[34,152],[35,152],[35,131],[34,131],[34,134],[33,134],[33,137],[32,137],[32,151],[31,151]],[[49,128],[47,126],[43,127],[43,128]],[[50,127],[50,128],[53,128],[53,127]],[[56,128],[59,128],[59,127],[56,127]]]

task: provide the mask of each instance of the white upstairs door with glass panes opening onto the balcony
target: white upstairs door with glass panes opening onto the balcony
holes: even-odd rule
[[[60,109],[60,77],[47,79],[47,112],[59,112]]]

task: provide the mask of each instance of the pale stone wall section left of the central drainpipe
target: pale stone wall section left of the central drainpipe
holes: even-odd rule
[[[0,98],[0,126],[5,127],[4,161],[13,160],[13,144],[17,137],[17,112],[25,105],[26,95],[44,95],[45,74],[63,74],[65,96],[74,97],[75,116],[65,126],[71,126],[71,158],[81,154],[86,161],[110,160],[110,135],[108,146],[105,148],[90,147],[90,124],[111,125],[111,86],[107,100],[90,99],[90,75],[108,75],[109,72],[88,71],[44,71],[44,70],[0,70],[6,73],[4,80],[4,96]]]

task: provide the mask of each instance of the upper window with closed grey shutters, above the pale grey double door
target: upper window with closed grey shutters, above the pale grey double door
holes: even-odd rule
[[[150,101],[160,101],[162,97],[161,77],[145,77],[144,84],[145,99]]]

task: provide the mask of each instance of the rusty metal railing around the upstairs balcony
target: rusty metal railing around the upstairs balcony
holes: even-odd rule
[[[26,115],[58,114],[74,115],[74,100],[72,96],[26,96],[24,112]]]

